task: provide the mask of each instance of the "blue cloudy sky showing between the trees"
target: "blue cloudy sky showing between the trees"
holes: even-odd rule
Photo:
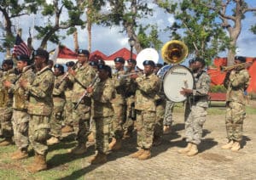
[[[256,7],[256,1],[247,1],[249,2],[249,6]],[[157,9],[157,13],[154,14],[153,17],[144,20],[145,24],[155,23],[160,26],[160,28],[164,28],[166,25],[172,24],[175,20],[173,19],[171,14],[164,14],[163,11]],[[238,48],[236,50],[237,55],[243,55],[247,57],[256,57],[256,35],[253,35],[252,32],[248,31],[250,26],[256,22],[256,16],[253,16],[252,13],[246,14],[246,19],[242,21],[242,30],[241,35],[237,41]],[[65,17],[63,17],[65,18]],[[24,23],[26,22],[26,23]],[[35,17],[34,19],[35,25],[44,24],[47,20],[42,19],[40,17]],[[20,19],[16,19],[14,23],[17,27],[22,28],[22,39],[26,41],[28,37],[28,28],[33,25],[33,16],[24,16]],[[95,50],[100,50],[102,53],[106,55],[110,55],[120,48],[128,48],[128,37],[125,33],[120,33],[121,29],[118,26],[102,27],[98,25],[94,25],[92,27],[92,52]],[[36,31],[34,31],[36,33]],[[60,34],[64,35],[65,32],[61,31]],[[162,42],[168,42],[168,33],[161,32],[160,39]],[[61,41],[62,44],[65,44],[67,48],[73,49],[73,35],[68,36],[66,39]],[[38,48],[39,42],[34,40],[32,43],[34,48]],[[47,50],[52,50],[55,48],[55,44],[49,43]],[[87,32],[84,30],[79,30],[79,48],[87,48]],[[3,60],[5,54],[0,53],[0,61]],[[219,56],[225,57],[226,53],[220,53]]]

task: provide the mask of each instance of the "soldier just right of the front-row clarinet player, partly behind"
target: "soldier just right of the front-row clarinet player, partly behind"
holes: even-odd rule
[[[121,148],[121,142],[124,135],[123,125],[125,123],[125,78],[120,76],[125,75],[124,65],[125,59],[117,57],[113,59],[115,72],[113,73],[113,83],[116,90],[115,98],[113,99],[113,138],[109,143],[109,149],[118,150]]]

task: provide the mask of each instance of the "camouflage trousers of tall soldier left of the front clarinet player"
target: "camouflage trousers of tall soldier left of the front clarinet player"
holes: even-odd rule
[[[86,143],[90,134],[90,106],[79,104],[78,108],[72,111],[72,119],[76,140],[79,144]]]

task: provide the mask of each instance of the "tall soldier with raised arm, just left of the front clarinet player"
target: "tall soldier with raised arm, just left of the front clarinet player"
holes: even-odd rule
[[[83,96],[84,88],[89,87],[96,76],[96,70],[89,63],[90,53],[88,50],[79,49],[78,61],[79,67],[75,70],[69,69],[69,80],[73,82],[72,102],[76,108],[73,109],[73,126],[76,132],[78,145],[68,152],[74,155],[83,155],[86,152],[87,137],[90,134],[90,105],[91,99],[84,97],[80,102],[79,98]],[[79,104],[78,104],[79,102]]]

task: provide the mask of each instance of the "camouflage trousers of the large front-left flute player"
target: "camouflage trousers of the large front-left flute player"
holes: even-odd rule
[[[30,115],[28,137],[35,153],[39,155],[47,155],[49,138],[49,118],[46,115]]]

